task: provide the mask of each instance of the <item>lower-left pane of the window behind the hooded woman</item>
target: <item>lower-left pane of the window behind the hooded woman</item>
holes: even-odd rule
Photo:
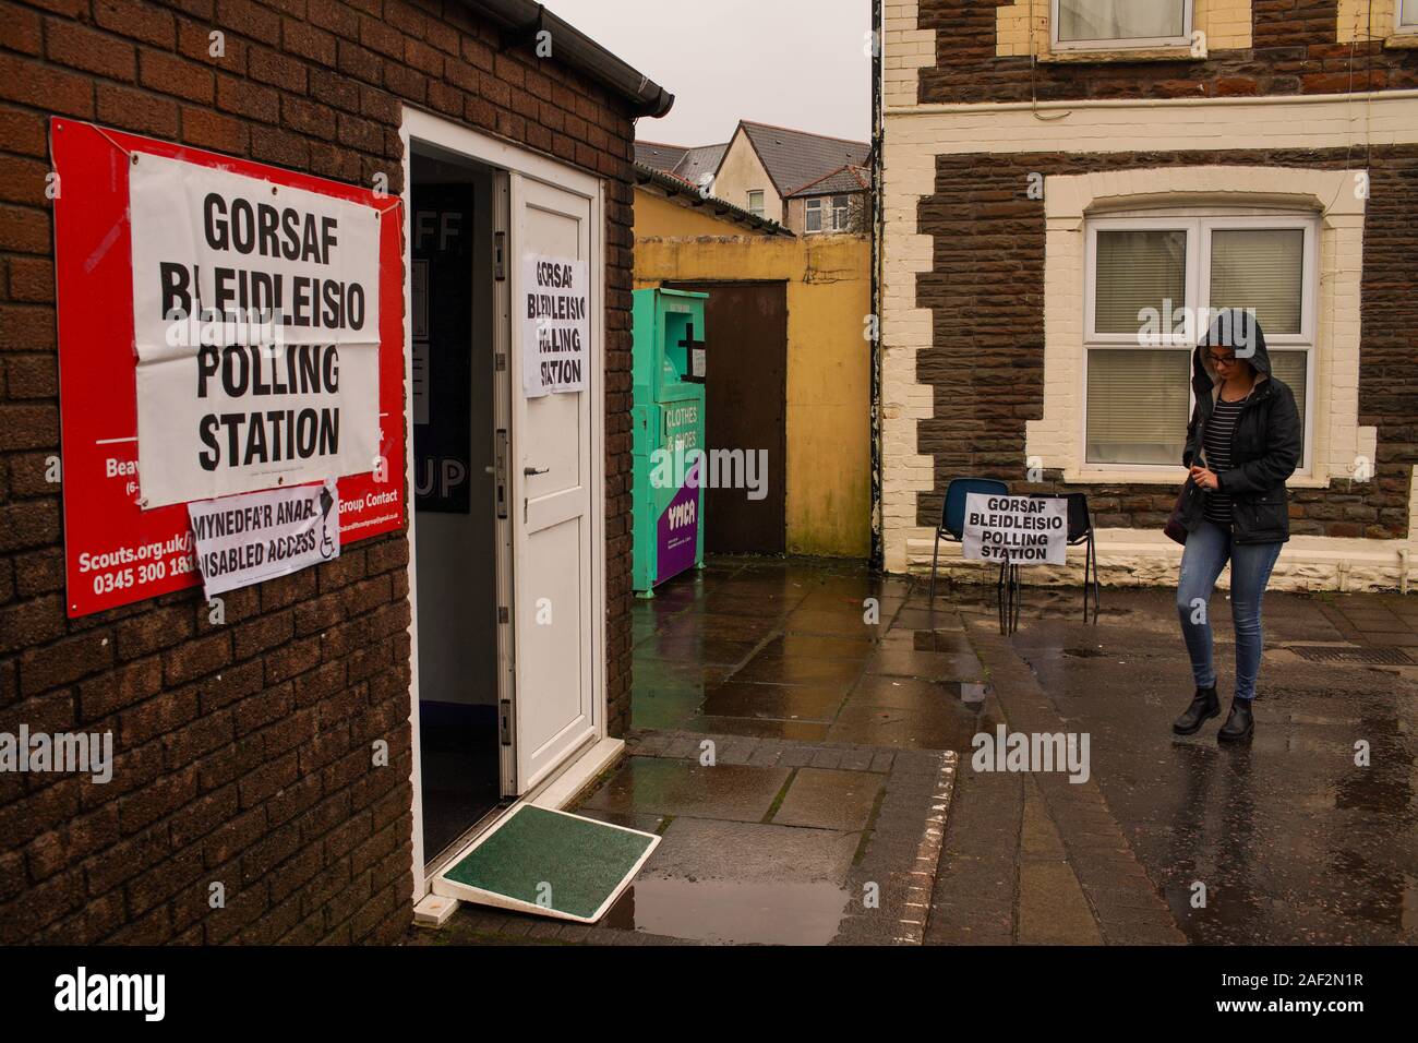
[[[1184,351],[1088,352],[1088,463],[1181,464],[1191,406]]]

